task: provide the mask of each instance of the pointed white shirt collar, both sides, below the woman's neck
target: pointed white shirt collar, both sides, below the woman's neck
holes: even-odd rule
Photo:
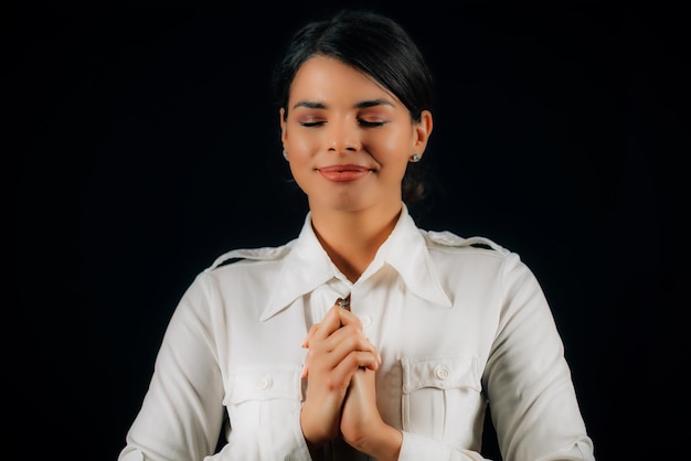
[[[291,250],[276,280],[275,290],[262,313],[262,321],[340,275],[315,235],[311,213],[307,214],[299,236],[290,246]],[[366,280],[384,265],[390,265],[398,272],[413,294],[434,304],[446,308],[451,305],[439,282],[425,238],[405,204],[393,232],[358,282]]]

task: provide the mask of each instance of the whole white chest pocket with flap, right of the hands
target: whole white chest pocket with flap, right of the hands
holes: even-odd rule
[[[403,358],[403,430],[479,447],[486,400],[477,357]]]

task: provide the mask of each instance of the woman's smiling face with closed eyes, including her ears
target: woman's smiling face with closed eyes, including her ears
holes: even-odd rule
[[[407,108],[372,78],[338,60],[315,56],[298,69],[281,141],[310,210],[362,211],[400,206],[401,181],[432,131],[425,111]]]

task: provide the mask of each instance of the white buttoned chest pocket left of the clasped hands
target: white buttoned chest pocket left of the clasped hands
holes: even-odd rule
[[[300,372],[300,367],[267,366],[233,373],[223,399],[231,428],[257,428],[290,411],[299,411]]]

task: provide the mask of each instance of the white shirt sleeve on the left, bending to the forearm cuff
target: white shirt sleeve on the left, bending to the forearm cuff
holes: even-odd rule
[[[299,411],[263,421],[214,454],[225,394],[217,346],[226,342],[214,324],[210,289],[199,276],[173,312],[118,461],[310,460]]]

